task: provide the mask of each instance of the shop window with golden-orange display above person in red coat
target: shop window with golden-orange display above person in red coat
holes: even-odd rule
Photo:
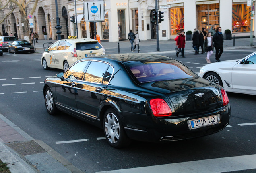
[[[170,8],[171,13],[171,34],[175,35],[184,30],[184,8],[183,7],[172,7]]]

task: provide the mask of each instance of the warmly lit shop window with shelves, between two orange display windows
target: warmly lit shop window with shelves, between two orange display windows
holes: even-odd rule
[[[219,26],[219,4],[200,4],[196,5],[198,23],[197,29],[206,28],[210,30],[212,26]]]

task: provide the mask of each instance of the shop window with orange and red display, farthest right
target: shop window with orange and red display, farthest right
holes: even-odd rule
[[[232,32],[250,32],[251,6],[247,4],[233,4]]]

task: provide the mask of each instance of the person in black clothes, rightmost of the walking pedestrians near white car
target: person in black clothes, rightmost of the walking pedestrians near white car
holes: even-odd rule
[[[216,50],[215,59],[216,62],[219,62],[219,58],[221,58],[221,54],[223,53],[223,34],[221,32],[221,27],[217,27],[215,30],[215,34],[213,35],[213,43]]]

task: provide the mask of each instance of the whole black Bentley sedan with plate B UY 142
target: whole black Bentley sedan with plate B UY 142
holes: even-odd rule
[[[64,111],[103,128],[116,148],[130,139],[164,142],[210,135],[230,118],[223,87],[160,55],[84,58],[45,79],[43,93],[49,114]]]

